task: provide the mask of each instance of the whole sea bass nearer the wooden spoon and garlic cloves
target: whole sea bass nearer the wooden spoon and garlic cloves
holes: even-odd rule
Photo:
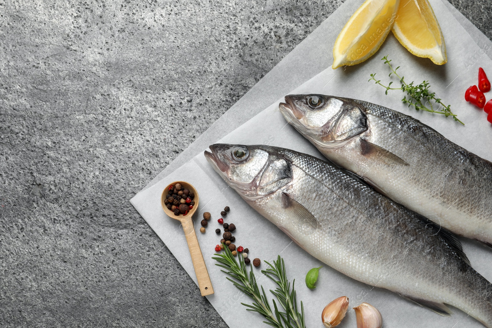
[[[215,171],[315,258],[439,314],[455,306],[492,328],[492,284],[469,266],[453,234],[313,156],[270,146],[210,149]]]

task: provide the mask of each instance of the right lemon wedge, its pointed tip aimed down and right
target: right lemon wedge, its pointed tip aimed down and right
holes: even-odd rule
[[[401,0],[393,34],[415,56],[438,65],[448,61],[441,28],[428,0]]]

